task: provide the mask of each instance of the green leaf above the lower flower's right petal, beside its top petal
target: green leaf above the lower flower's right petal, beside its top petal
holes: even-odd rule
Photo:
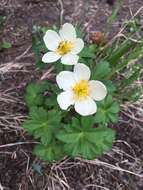
[[[107,61],[101,61],[98,63],[94,69],[94,72],[92,72],[91,78],[94,80],[102,80],[105,79],[111,72],[110,65]]]

